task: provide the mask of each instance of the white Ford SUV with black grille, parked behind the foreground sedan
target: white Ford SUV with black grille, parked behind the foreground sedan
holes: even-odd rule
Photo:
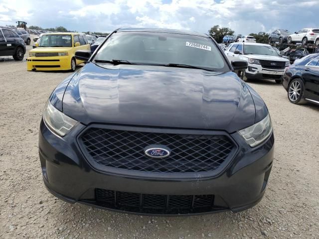
[[[248,68],[239,72],[240,77],[249,79],[272,79],[281,84],[289,59],[281,57],[268,44],[235,42],[229,45],[225,54],[228,60],[246,60]]]

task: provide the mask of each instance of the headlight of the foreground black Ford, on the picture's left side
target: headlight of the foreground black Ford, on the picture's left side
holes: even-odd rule
[[[64,136],[78,121],[71,119],[58,111],[50,101],[46,104],[43,112],[45,123],[57,134]]]

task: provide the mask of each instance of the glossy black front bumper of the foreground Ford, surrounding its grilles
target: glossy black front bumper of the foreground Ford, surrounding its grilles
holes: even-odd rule
[[[254,206],[264,195],[271,171],[274,153],[273,134],[261,145],[251,148],[238,134],[230,136],[239,148],[230,164],[214,177],[163,179],[134,177],[101,172],[84,158],[75,140],[85,128],[78,124],[63,138],[50,131],[43,120],[39,132],[39,156],[43,180],[55,196],[70,202],[84,203],[110,210],[151,214],[199,214],[225,210],[234,212]],[[213,195],[213,204],[205,210],[146,211],[141,208],[121,207],[117,203],[101,204],[97,201],[97,189],[125,193],[127,195]],[[115,197],[116,199],[116,197]]]

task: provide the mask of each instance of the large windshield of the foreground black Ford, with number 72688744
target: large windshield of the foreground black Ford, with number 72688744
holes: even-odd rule
[[[212,71],[229,71],[209,37],[159,32],[117,32],[94,60],[124,60],[134,64],[183,64]]]

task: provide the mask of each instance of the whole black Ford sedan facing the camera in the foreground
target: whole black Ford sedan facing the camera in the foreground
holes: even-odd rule
[[[48,190],[70,203],[145,214],[257,204],[273,163],[261,97],[207,34],[124,28],[51,94],[39,133]]]

